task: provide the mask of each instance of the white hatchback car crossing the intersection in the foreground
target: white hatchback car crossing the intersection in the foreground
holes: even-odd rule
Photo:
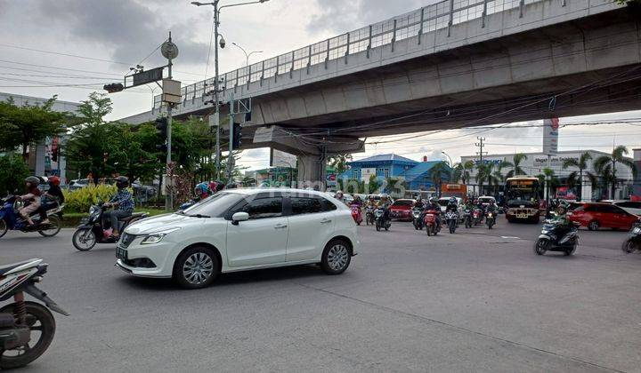
[[[351,210],[328,194],[231,189],[127,226],[116,266],[195,289],[221,273],[279,266],[320,264],[342,274],[360,246]]]

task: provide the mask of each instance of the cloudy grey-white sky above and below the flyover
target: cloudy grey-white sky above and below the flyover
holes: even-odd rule
[[[229,45],[221,52],[223,72],[241,67],[247,52],[264,51],[253,61],[271,58],[359,28],[378,20],[409,12],[433,0],[271,0],[223,10],[221,32]],[[221,4],[235,3],[222,0]],[[183,84],[211,76],[207,67],[212,25],[210,7],[196,7],[186,0],[0,0],[0,91],[38,97],[79,101],[103,83],[122,79],[129,67],[163,64],[154,50],[169,30],[180,48],[174,61],[174,77]],[[137,87],[112,96],[110,119],[150,109],[158,88]],[[562,123],[641,118],[641,113],[562,118]],[[566,127],[561,131],[561,150],[594,148],[607,151],[613,142],[641,147],[636,125]],[[366,155],[397,153],[420,159],[442,158],[446,150],[456,162],[460,155],[475,153],[478,130],[448,131],[416,139],[389,142],[394,138],[368,139]],[[495,130],[480,133],[490,153],[539,151],[540,128]],[[399,138],[404,138],[399,137]],[[385,142],[384,142],[385,141]],[[268,152],[243,155],[253,169],[268,165]]]

